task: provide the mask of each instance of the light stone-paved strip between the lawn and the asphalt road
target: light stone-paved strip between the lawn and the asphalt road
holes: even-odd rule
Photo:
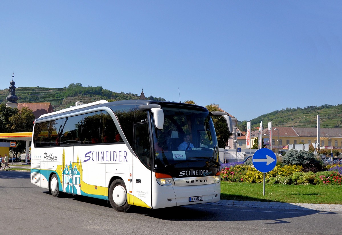
[[[337,204],[252,202],[252,201],[233,201],[233,200],[220,200],[219,202],[213,202],[213,203],[207,203],[207,204],[219,205],[219,206],[232,206],[232,207],[342,211],[342,205],[337,205]]]

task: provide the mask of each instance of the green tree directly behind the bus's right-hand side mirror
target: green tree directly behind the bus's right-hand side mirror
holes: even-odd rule
[[[211,112],[219,111],[217,107],[211,105],[207,105],[206,108]],[[213,124],[215,127],[219,148],[224,149],[226,147],[225,140],[228,140],[229,136],[231,136],[232,133],[229,133],[226,120],[223,118],[223,116],[212,116],[211,119],[213,120]]]

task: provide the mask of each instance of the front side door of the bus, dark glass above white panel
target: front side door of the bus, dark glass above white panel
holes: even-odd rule
[[[134,125],[133,204],[152,208],[151,147],[148,123]]]

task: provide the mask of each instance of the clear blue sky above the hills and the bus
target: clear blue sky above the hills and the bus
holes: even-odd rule
[[[243,121],[337,105],[341,1],[2,1],[0,89],[103,86]],[[19,102],[19,100],[18,100]]]

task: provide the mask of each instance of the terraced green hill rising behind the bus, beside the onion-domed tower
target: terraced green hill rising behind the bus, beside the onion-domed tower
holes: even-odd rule
[[[9,94],[9,89],[0,90],[0,102],[7,102],[6,97]],[[132,93],[117,93],[107,89],[98,87],[83,87],[81,84],[70,84],[65,88],[48,88],[48,87],[17,87],[15,94],[18,97],[18,103],[28,102],[50,102],[53,110],[58,111],[75,105],[76,101],[90,103],[98,100],[127,100],[139,99],[137,94]],[[151,100],[164,100],[163,98],[155,98],[153,96],[146,97]]]

